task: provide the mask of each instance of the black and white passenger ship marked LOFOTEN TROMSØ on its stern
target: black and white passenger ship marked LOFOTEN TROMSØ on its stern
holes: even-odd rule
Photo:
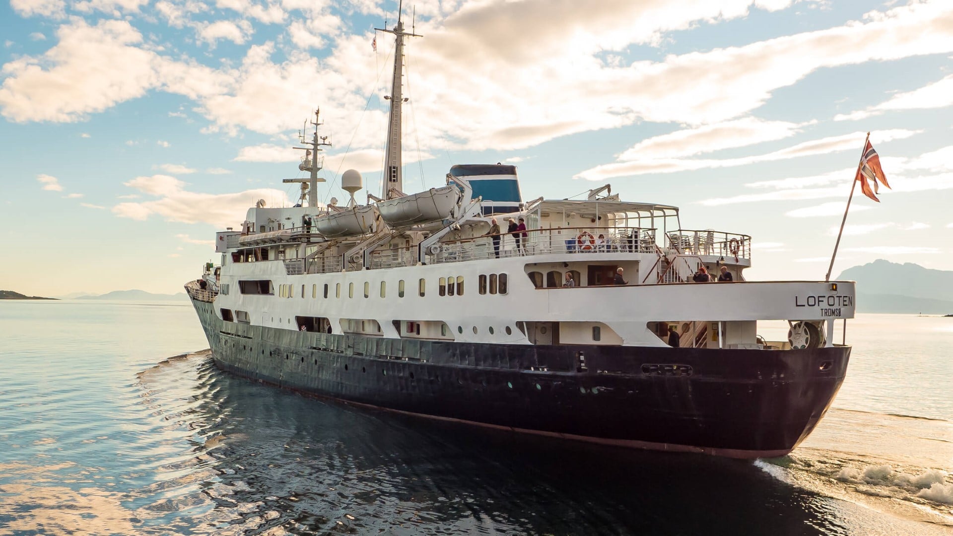
[[[405,31],[395,39],[380,196],[317,200],[322,146],[302,132],[301,197],[216,233],[186,283],[221,370],[367,408],[621,447],[752,459],[821,421],[851,347],[852,281],[746,280],[752,238],[682,228],[679,208],[525,200],[515,166],[454,165],[403,192]],[[307,127],[307,124],[306,124]],[[701,270],[704,268],[705,270]],[[713,281],[704,272],[718,275]],[[759,322],[786,320],[787,340]]]

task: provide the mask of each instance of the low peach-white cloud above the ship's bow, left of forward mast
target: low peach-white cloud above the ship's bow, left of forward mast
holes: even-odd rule
[[[270,188],[246,190],[233,194],[201,194],[185,189],[186,184],[172,176],[137,176],[125,183],[143,194],[157,197],[140,202],[119,203],[112,213],[120,217],[145,220],[162,216],[168,221],[209,223],[219,228],[233,227],[244,219],[249,207],[258,199],[269,206],[289,206],[285,192]]]

